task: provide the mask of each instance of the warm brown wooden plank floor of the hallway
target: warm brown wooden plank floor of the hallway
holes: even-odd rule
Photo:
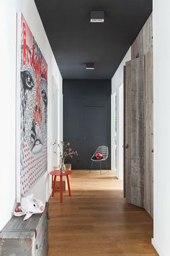
[[[50,198],[48,256],[158,255],[151,217],[125,202],[113,171],[73,171],[70,181],[71,197]]]

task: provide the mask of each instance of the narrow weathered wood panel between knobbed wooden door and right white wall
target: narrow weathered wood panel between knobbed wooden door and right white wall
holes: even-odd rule
[[[153,50],[145,55],[145,198],[144,208],[153,217]]]

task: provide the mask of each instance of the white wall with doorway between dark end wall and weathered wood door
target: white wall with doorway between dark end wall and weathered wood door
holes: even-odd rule
[[[117,94],[117,177],[118,179],[123,178],[123,67],[126,61],[131,59],[131,47],[129,48],[127,54],[122,59],[120,66],[117,68],[114,76],[112,77],[112,95]],[[111,97],[111,168],[114,169],[115,164],[115,100]]]

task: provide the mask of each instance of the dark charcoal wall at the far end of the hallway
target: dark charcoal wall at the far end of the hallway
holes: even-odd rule
[[[73,169],[89,169],[99,145],[109,147],[110,168],[111,80],[63,80],[63,140],[79,153],[67,161]]]

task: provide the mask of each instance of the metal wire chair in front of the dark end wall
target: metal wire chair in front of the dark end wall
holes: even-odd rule
[[[103,158],[97,159],[96,156],[95,156],[96,153],[101,153],[103,155]],[[106,166],[107,170],[109,171],[109,169],[107,167],[107,163],[106,163],[107,158],[108,158],[108,147],[107,146],[99,146],[97,148],[97,150],[94,152],[94,154],[91,156],[90,173],[91,173],[91,168],[93,166],[93,163],[94,162],[99,162],[100,174],[102,174],[102,161],[105,163],[105,166]]]

